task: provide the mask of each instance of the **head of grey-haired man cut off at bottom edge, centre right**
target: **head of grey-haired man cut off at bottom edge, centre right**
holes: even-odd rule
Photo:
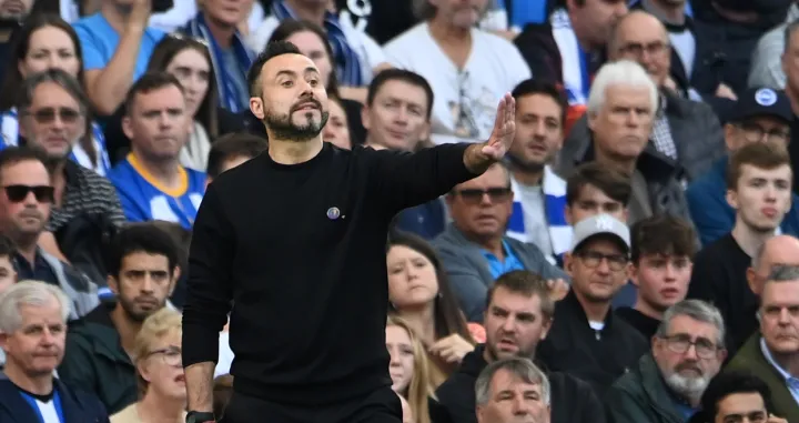
[[[549,423],[549,380],[528,359],[488,364],[477,377],[475,397],[477,423]]]

